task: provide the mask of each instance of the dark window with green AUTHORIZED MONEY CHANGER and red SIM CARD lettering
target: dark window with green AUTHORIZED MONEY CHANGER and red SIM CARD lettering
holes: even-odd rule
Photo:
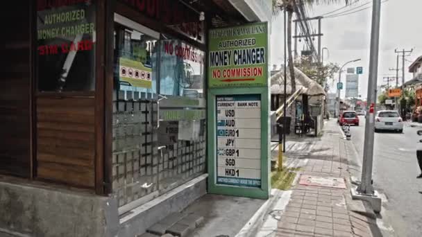
[[[95,1],[37,0],[39,91],[94,91]]]

